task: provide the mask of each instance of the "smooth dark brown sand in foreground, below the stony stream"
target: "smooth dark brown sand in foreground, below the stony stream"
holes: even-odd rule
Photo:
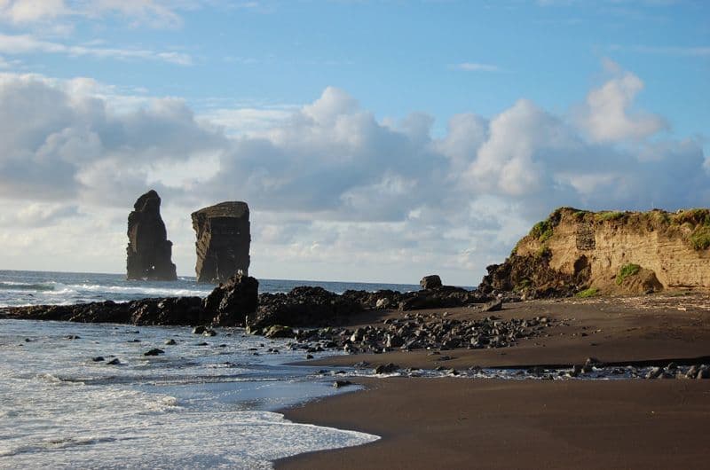
[[[299,468],[706,468],[708,380],[359,379],[294,422],[379,435]]]

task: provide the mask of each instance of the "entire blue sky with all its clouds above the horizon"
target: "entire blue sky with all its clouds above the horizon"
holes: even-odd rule
[[[475,286],[555,208],[710,206],[703,0],[0,0],[0,269],[125,272],[144,192],[256,278]]]

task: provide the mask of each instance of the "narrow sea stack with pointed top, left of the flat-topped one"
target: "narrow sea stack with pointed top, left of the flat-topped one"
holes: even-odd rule
[[[170,261],[172,242],[161,218],[161,197],[154,190],[146,192],[128,215],[129,279],[175,280],[175,264]]]

